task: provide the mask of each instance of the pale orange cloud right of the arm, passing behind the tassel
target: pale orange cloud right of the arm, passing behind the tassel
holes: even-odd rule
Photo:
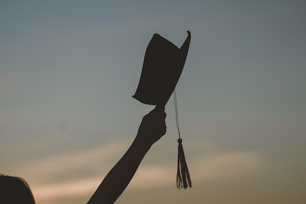
[[[257,152],[224,152],[199,155],[187,161],[192,180],[211,181],[251,173],[262,168],[263,159]],[[176,163],[146,165],[138,169],[131,188],[151,188],[175,184]]]

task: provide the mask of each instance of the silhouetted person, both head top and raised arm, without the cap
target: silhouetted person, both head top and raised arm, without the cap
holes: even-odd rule
[[[130,148],[109,171],[87,204],[113,204],[128,186],[142,159],[166,134],[165,107],[156,106],[145,115]],[[35,204],[29,185],[19,177],[0,175],[1,204]]]

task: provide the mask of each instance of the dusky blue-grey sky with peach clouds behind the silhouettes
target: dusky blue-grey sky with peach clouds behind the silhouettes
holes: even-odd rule
[[[38,204],[85,204],[154,106],[135,93],[158,33],[180,47],[176,85],[193,187],[175,188],[167,133],[116,204],[306,202],[306,1],[0,1],[0,173]]]

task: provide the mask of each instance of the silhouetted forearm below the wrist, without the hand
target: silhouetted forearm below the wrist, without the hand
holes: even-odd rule
[[[149,149],[149,145],[144,145],[135,139],[128,151],[109,171],[87,204],[113,204],[130,183]]]

